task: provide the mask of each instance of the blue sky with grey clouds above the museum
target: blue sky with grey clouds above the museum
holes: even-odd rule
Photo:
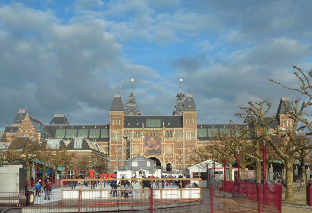
[[[22,3],[20,3],[22,2]],[[200,123],[238,105],[296,97],[292,65],[312,67],[312,1],[0,0],[0,128],[20,106],[48,123],[108,123],[114,85],[142,114],[174,110],[179,79]]]

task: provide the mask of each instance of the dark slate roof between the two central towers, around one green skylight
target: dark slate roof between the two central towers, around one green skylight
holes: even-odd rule
[[[147,127],[146,120],[160,120],[160,127]],[[166,128],[182,128],[183,118],[182,116],[125,116],[124,128],[162,128],[165,124]]]

